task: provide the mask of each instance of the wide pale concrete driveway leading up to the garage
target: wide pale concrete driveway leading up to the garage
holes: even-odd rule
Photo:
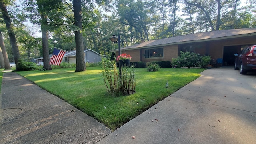
[[[256,144],[256,73],[201,75],[96,144]]]

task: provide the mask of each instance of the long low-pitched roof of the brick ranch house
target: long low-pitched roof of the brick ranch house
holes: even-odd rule
[[[228,38],[239,38],[245,36],[256,35],[256,28],[243,28],[243,29],[232,29],[232,30],[216,30],[211,32],[201,32],[196,34],[187,34],[183,36],[176,36],[171,38],[163,38],[159,40],[150,40],[147,42],[142,42],[140,44],[135,44],[132,46],[121,48],[121,50],[132,50],[140,48],[152,48],[157,46],[167,46],[174,44],[186,44],[192,42],[204,42],[212,40],[223,40]],[[118,49],[112,50],[117,52]]]

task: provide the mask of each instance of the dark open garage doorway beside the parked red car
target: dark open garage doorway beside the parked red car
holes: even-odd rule
[[[234,65],[236,56],[234,54],[241,52],[242,46],[224,46],[223,50],[223,65],[231,66]]]

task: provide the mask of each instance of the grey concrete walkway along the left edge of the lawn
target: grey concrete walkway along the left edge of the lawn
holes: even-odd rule
[[[0,144],[93,144],[109,128],[15,72],[4,73]]]

